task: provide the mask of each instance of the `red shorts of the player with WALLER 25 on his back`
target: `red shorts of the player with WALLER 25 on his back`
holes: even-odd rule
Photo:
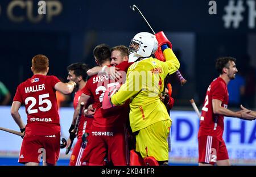
[[[40,161],[55,165],[60,154],[60,133],[52,136],[28,136],[22,140],[19,163]]]

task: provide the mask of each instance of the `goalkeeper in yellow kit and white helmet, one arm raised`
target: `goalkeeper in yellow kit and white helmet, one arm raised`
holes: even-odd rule
[[[164,78],[175,73],[180,63],[166,36],[159,44],[155,35],[148,32],[134,36],[129,54],[129,62],[134,64],[127,71],[126,82],[110,101],[120,106],[130,99],[130,125],[137,134],[136,151],[145,163],[154,161],[154,165],[168,165],[167,138],[171,119],[160,96],[164,91]],[[163,51],[165,62],[151,57],[158,47]]]

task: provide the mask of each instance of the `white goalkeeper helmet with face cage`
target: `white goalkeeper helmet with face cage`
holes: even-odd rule
[[[135,62],[138,58],[150,57],[158,49],[155,35],[149,32],[140,32],[133,37],[129,46],[128,62]]]

